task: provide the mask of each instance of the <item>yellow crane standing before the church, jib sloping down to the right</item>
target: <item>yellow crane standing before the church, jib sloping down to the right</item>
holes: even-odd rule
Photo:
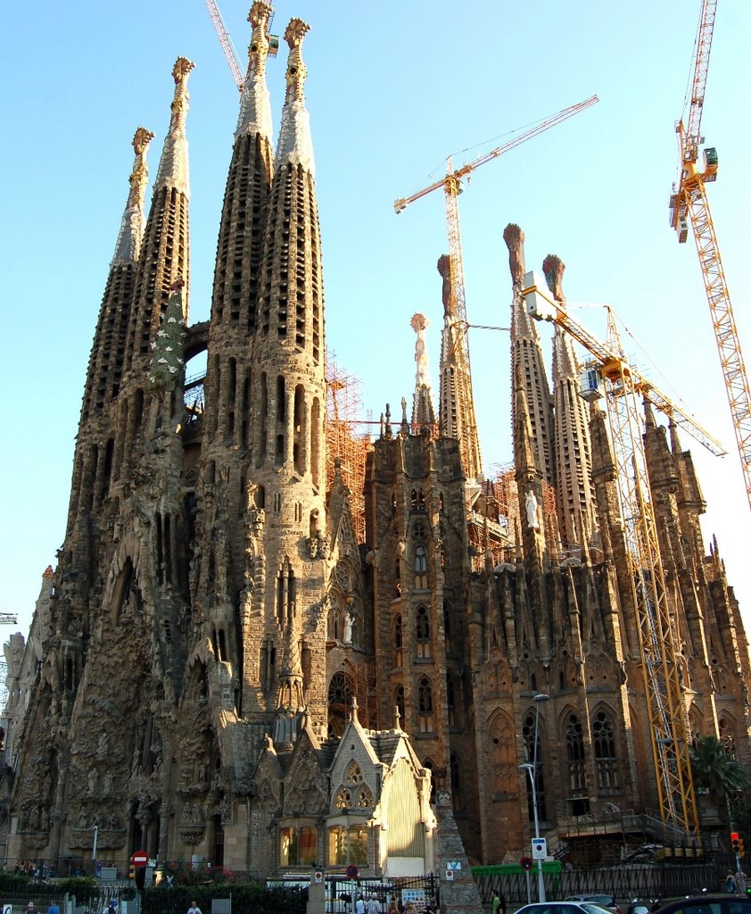
[[[612,309],[608,307],[608,342],[602,343],[578,324],[566,307],[555,302],[545,281],[534,272],[525,274],[522,295],[528,314],[563,327],[594,356],[594,361],[585,366],[582,395],[590,400],[604,396],[607,406],[661,819],[692,840],[699,834],[699,815],[689,758],[690,730],[647,472],[639,398],[660,409],[712,453],[723,455],[725,450],[693,416],[629,365]]]

